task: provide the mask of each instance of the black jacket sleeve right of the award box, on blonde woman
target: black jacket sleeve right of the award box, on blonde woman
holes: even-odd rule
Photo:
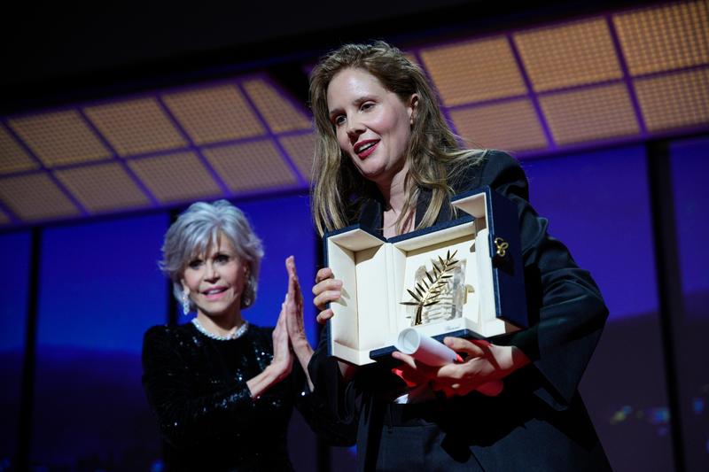
[[[517,205],[531,328],[513,338],[543,377],[536,394],[557,409],[571,402],[596,348],[608,310],[588,271],[547,232],[548,221],[529,204],[526,175],[518,162],[488,151],[480,185]]]

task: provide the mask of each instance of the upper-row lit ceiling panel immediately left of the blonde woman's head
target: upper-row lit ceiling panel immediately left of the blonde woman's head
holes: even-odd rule
[[[308,116],[296,110],[292,101],[267,81],[263,79],[245,81],[244,89],[274,133],[310,128]]]

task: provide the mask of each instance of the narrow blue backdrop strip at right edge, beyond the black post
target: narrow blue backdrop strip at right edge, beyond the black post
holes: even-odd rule
[[[674,317],[687,470],[709,470],[709,138],[670,147],[683,306]]]

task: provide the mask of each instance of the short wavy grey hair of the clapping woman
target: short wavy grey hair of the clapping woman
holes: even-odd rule
[[[220,234],[230,240],[238,257],[248,264],[250,270],[244,293],[241,294],[241,307],[253,305],[258,289],[263,247],[244,213],[226,200],[218,200],[212,204],[193,203],[177,217],[165,234],[162,260],[158,266],[172,281],[173,294],[177,301],[182,301],[181,281],[185,267],[196,255],[204,254],[213,244],[217,244]],[[191,300],[190,309],[195,309]]]

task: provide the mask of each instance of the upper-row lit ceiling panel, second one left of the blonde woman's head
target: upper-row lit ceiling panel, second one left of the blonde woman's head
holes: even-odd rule
[[[163,101],[195,144],[263,135],[261,122],[235,85],[165,95]]]

